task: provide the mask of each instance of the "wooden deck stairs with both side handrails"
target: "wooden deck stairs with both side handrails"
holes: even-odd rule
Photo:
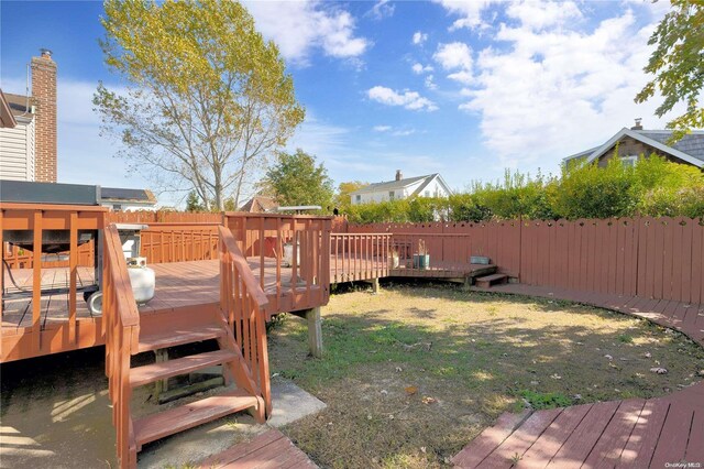
[[[142,445],[248,411],[261,424],[271,415],[271,382],[266,351],[267,297],[229,229],[219,227],[220,304],[202,305],[169,316],[141,318],[114,225],[105,229],[103,318],[106,374],[120,467],[138,466]],[[144,320],[142,320],[144,319]],[[174,360],[132,366],[143,352],[166,356],[165,349],[215,340],[217,350]],[[227,388],[219,394],[136,418],[130,410],[132,391],[173,377],[221,366]],[[234,384],[234,386],[230,386]]]

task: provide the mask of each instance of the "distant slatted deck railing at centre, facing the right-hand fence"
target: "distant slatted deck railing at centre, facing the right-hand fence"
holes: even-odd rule
[[[391,233],[330,234],[330,282],[354,282],[388,276]]]

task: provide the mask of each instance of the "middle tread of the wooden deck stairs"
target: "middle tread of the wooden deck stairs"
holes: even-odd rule
[[[232,361],[238,356],[230,350],[216,350],[211,352],[191,355],[175,360],[168,360],[130,370],[130,385],[132,388],[153,383],[178,374],[191,373],[202,368],[212,367]]]

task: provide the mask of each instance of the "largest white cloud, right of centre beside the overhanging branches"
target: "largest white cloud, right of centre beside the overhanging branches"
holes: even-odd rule
[[[642,67],[654,23],[641,28],[627,10],[585,32],[563,22],[581,18],[572,7],[541,19],[527,13],[532,6],[512,8],[518,25],[502,25],[495,36],[508,47],[481,51],[473,81],[461,91],[469,100],[459,106],[480,116],[485,145],[503,164],[557,162],[603,143],[636,117],[662,128],[667,119],[653,117],[658,99],[634,102],[648,78]]]

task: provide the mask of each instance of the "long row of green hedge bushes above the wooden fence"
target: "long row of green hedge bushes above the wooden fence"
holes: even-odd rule
[[[560,176],[507,172],[503,183],[474,184],[449,198],[415,197],[348,205],[353,223],[576,219],[609,217],[704,217],[704,174],[694,166],[652,155],[635,166],[610,159],[563,168]]]

